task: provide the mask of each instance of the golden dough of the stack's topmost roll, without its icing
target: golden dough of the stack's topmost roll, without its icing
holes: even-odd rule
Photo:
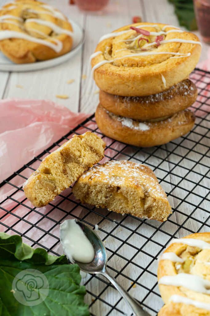
[[[142,29],[152,32],[159,32],[165,26],[165,24],[161,23],[135,23],[121,27],[115,32],[129,30],[130,26],[137,27],[147,24],[157,25],[157,27],[142,27]],[[168,26],[166,31],[173,29],[173,27]],[[99,62],[120,58],[112,63],[103,64],[94,71],[94,79],[97,86],[107,93],[121,96],[144,96],[160,93],[187,78],[200,58],[200,45],[177,42],[162,44],[152,48],[150,52],[190,53],[190,56],[170,58],[173,57],[172,54],[161,54],[122,58],[133,53],[130,49],[130,42],[122,41],[131,38],[131,36],[136,36],[134,30],[102,40],[96,47],[95,52],[101,51],[102,53],[92,59],[92,67]],[[151,36],[152,42],[155,40],[155,37]],[[174,38],[199,41],[198,37],[190,32],[172,32],[167,33],[165,36],[165,40]],[[165,78],[165,84],[162,76]]]

